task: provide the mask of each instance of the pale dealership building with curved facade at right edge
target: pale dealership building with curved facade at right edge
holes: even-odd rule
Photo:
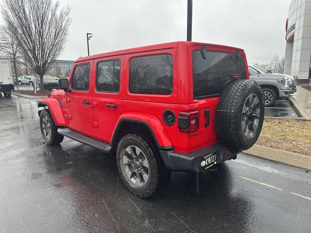
[[[305,82],[311,67],[311,0],[293,0],[286,20],[284,73]]]

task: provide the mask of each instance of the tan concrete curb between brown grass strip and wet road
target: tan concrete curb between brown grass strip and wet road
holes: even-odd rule
[[[284,150],[254,145],[251,149],[244,150],[242,153],[253,155],[262,159],[275,161],[282,164],[300,167],[311,170],[311,156],[296,154]]]

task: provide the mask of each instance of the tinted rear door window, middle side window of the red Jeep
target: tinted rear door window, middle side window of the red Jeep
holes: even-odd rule
[[[99,62],[97,64],[96,89],[104,92],[119,92],[120,60]]]

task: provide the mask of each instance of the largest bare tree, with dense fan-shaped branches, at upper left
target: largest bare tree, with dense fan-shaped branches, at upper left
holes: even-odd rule
[[[40,76],[41,90],[43,75],[67,41],[69,12],[69,6],[60,9],[59,1],[3,0],[3,19],[26,55],[28,67]]]

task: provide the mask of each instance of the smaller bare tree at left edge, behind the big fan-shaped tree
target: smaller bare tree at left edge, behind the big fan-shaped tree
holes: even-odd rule
[[[12,30],[5,26],[0,26],[0,51],[11,57],[17,82],[17,63],[18,59],[20,59],[20,48]]]

